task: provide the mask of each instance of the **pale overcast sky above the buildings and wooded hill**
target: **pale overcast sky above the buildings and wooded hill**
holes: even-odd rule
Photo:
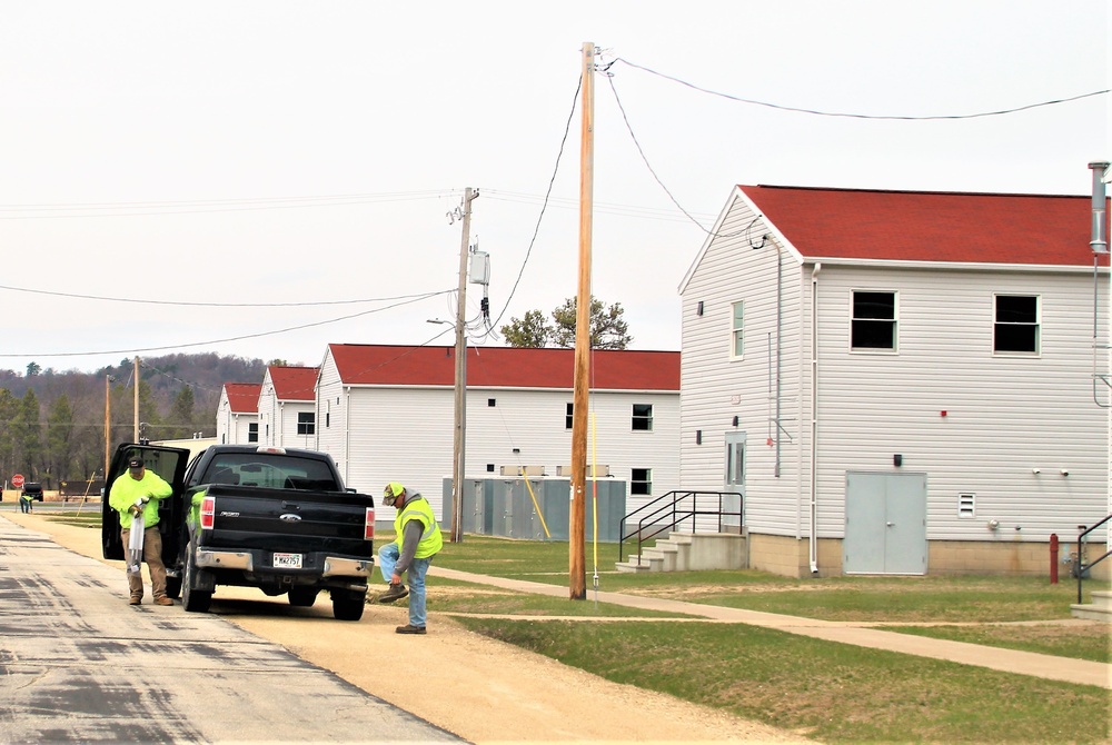
[[[1112,155],[1108,93],[930,120],[727,96],[989,113],[1106,90],[1110,38],[1106,0],[3,1],[0,368],[450,345],[426,321],[455,318],[466,187],[492,321],[550,311],[577,291],[584,42],[612,76],[594,294],[634,348],[679,349],[736,183],[1088,195]]]

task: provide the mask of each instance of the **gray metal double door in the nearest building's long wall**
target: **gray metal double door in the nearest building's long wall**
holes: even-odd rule
[[[926,574],[926,474],[845,475],[846,574]]]

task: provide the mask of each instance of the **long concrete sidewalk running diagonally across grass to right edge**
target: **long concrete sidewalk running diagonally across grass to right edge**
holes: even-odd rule
[[[536,595],[548,595],[552,597],[566,598],[568,593],[567,587],[562,587],[559,585],[546,585],[544,583],[526,582],[524,579],[489,577],[486,575],[470,574],[468,572],[458,572],[456,569],[446,569],[436,565],[429,568],[429,574],[437,577],[445,577],[447,579],[458,579],[460,582],[490,585],[492,587],[502,587],[504,589],[517,590],[519,593],[534,593]],[[629,608],[683,613],[721,623],[763,626],[765,628],[775,628],[790,634],[800,634],[802,636],[811,636],[818,639],[826,639],[828,642],[841,642],[843,644],[853,644],[860,647],[886,649],[888,652],[898,652],[905,655],[934,657],[936,659],[946,659],[962,665],[989,667],[1004,673],[1033,675],[1035,677],[1049,678],[1052,681],[1064,681],[1065,683],[1093,685],[1100,686],[1101,688],[1112,689],[1112,665],[1105,663],[1094,663],[1086,659],[1073,659],[1070,657],[1054,657],[1052,655],[1043,655],[1034,652],[1020,652],[1017,649],[986,647],[979,644],[967,644],[965,642],[933,639],[925,636],[913,636],[911,634],[897,634],[895,632],[885,632],[881,628],[876,628],[875,624],[818,620],[815,618],[801,618],[797,616],[785,616],[775,613],[762,613],[759,610],[743,610],[739,608],[725,608],[716,605],[685,603],[683,600],[624,595],[622,593],[599,592],[597,596],[599,603],[623,605]],[[594,590],[588,589],[587,599],[590,600],[594,598]]]

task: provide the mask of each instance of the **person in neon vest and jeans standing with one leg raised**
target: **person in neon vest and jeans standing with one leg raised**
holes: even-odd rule
[[[433,515],[433,506],[420,494],[406,489],[397,481],[386,485],[383,504],[394,507],[394,535],[397,539],[378,552],[378,568],[390,586],[378,596],[379,603],[394,603],[409,596],[409,623],[398,626],[398,634],[425,633],[425,574],[433,557],[444,546],[440,526]],[[409,588],[401,584],[406,575]]]

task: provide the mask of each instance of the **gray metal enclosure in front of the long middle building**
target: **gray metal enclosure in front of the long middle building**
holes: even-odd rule
[[[444,526],[451,525],[451,479],[445,478]],[[464,484],[461,526],[464,533],[523,538],[568,540],[572,517],[572,483],[566,478],[469,478]],[[626,483],[616,479],[587,481],[584,538],[617,543],[625,516]],[[547,528],[547,530],[546,530]]]

